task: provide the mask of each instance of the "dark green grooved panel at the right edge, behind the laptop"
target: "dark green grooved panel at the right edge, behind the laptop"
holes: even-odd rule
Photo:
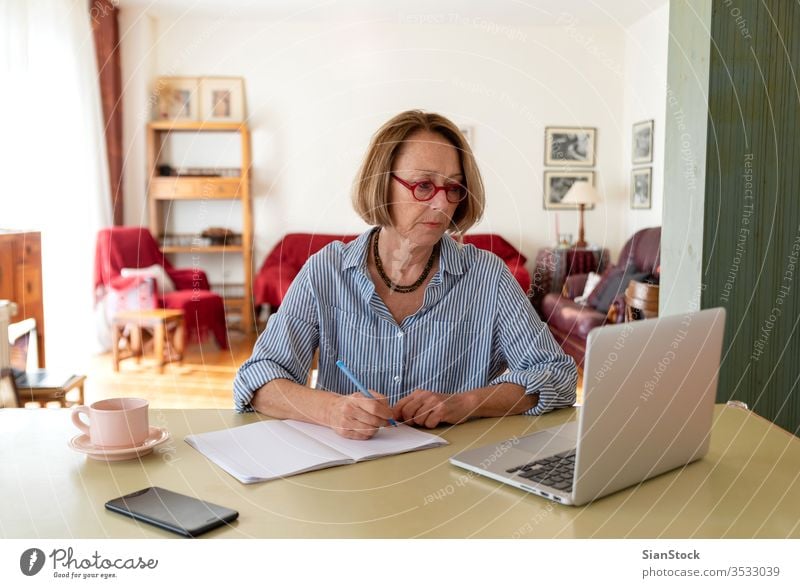
[[[719,401],[800,433],[800,3],[715,0],[702,306],[728,311]]]

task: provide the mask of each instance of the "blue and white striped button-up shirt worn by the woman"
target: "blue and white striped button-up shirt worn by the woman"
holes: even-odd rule
[[[442,237],[422,307],[398,325],[369,276],[369,237],[331,243],[300,270],[239,368],[239,412],[252,411],[256,390],[271,380],[305,384],[317,348],[318,389],[355,391],[335,365],[341,359],[390,405],[416,389],[457,394],[503,382],[539,394],[527,414],[575,402],[575,362],[497,256]]]

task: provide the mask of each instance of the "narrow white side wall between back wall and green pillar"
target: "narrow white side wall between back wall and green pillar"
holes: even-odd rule
[[[628,176],[625,193],[626,234],[639,229],[661,225],[664,194],[664,137],[667,111],[667,41],[669,37],[669,4],[665,4],[643,17],[627,29],[625,35],[625,123],[629,129],[625,137],[623,167]],[[654,120],[653,163],[637,164],[651,167],[652,208],[630,209],[631,130],[634,123]]]

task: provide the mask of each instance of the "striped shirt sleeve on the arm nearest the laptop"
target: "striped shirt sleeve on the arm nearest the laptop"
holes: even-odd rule
[[[494,339],[508,369],[490,384],[517,384],[526,394],[538,393],[539,402],[525,414],[575,403],[575,361],[556,343],[508,271],[499,280]]]

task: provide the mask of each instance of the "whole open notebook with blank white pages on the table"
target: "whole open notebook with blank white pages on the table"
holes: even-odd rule
[[[406,425],[385,427],[372,439],[345,439],[332,429],[300,421],[260,421],[188,435],[185,441],[243,484],[447,445]]]

